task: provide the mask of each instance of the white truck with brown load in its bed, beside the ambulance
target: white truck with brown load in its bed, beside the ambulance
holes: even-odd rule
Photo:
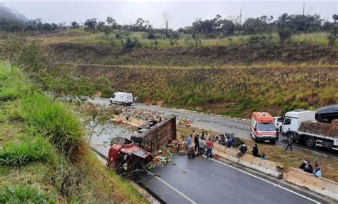
[[[297,141],[313,148],[320,146],[338,150],[337,123],[319,123],[314,111],[295,110],[285,113],[282,136],[293,136]]]

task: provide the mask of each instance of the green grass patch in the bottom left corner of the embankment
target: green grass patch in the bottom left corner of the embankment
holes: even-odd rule
[[[0,203],[55,203],[54,196],[39,189],[39,185],[11,185],[0,189]]]

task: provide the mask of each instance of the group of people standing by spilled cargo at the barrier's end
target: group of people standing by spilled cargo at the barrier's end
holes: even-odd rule
[[[193,148],[193,140],[195,146]],[[214,147],[211,138],[207,131],[202,131],[201,134],[193,131],[188,138],[188,157],[195,157],[195,154],[206,155],[207,158],[212,158],[212,148]],[[206,149],[206,152],[205,152]]]

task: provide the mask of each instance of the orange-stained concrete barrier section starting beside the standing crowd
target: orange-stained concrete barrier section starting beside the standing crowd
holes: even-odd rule
[[[225,146],[218,144],[214,144],[212,151],[213,153],[216,153],[220,157],[230,160],[233,163],[243,165],[247,168],[252,168],[253,170],[257,170],[275,178],[282,178],[282,170],[284,166],[280,163],[276,163],[271,160],[262,160],[248,154],[238,158],[237,154],[240,152],[238,149],[226,148]]]

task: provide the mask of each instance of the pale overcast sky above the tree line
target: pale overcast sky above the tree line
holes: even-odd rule
[[[84,22],[96,18],[106,21],[113,16],[119,24],[135,23],[136,19],[149,20],[155,28],[163,28],[163,12],[171,16],[170,28],[192,24],[197,18],[212,19],[216,14],[222,18],[239,16],[242,19],[262,15],[278,16],[282,13],[320,14],[323,19],[332,21],[337,14],[337,1],[2,1],[5,6],[16,9],[29,19],[42,19],[43,22],[68,25],[71,21]]]

